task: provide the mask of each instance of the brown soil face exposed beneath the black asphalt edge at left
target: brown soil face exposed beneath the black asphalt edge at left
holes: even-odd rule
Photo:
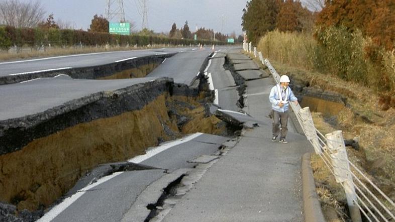
[[[178,102],[190,104],[175,111],[188,118],[181,130],[168,109]],[[165,93],[140,110],[36,139],[17,152],[0,156],[0,200],[16,204],[18,210],[45,208],[98,164],[132,158],[185,133],[223,135],[225,124],[205,110],[195,98]]]

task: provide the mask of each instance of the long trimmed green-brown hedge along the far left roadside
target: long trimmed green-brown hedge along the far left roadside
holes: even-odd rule
[[[39,28],[15,28],[11,26],[0,26],[0,48],[9,49],[16,45],[18,47],[28,46],[31,48],[41,45],[51,46],[96,46],[96,45],[138,45],[146,46],[152,44],[227,44],[225,42],[212,42],[207,40],[194,41],[190,39],[170,39],[159,36],[140,35],[113,35],[109,33],[92,33],[81,30],[68,29],[39,29]]]

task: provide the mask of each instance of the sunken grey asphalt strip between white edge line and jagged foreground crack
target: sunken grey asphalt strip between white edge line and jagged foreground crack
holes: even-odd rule
[[[169,172],[192,168],[195,164],[187,163],[188,160],[215,153],[227,140],[225,137],[202,134],[152,156],[141,164],[168,169]],[[88,190],[52,221],[120,221],[137,196],[163,175],[164,170],[123,172]]]

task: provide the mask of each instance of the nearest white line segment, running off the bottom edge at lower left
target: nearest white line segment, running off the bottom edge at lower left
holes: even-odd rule
[[[102,177],[99,180],[97,180],[97,182],[90,184],[90,185],[78,190],[75,194],[71,195],[70,197],[67,197],[60,204],[56,205],[50,211],[45,213],[44,216],[42,216],[40,219],[37,220],[37,222],[51,221],[56,216],[58,216],[61,212],[63,212],[63,210],[65,210],[68,206],[70,206],[73,202],[75,202],[79,197],[81,197],[84,193],[86,193],[86,191],[120,175],[121,173],[123,173],[123,172],[115,172],[109,176]]]

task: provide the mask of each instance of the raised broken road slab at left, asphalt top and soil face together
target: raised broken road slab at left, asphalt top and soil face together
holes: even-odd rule
[[[45,209],[98,164],[183,134],[226,135],[205,105],[211,93],[169,78],[61,75],[0,90],[0,200],[21,211]]]

